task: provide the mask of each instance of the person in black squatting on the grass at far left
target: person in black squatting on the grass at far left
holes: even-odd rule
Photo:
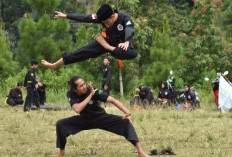
[[[17,87],[10,90],[8,98],[6,100],[7,104],[10,106],[22,105],[23,95],[22,95],[22,83],[17,83]]]

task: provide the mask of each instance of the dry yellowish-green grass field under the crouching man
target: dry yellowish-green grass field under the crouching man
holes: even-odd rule
[[[117,109],[108,113],[122,115]],[[221,114],[214,105],[185,112],[175,109],[132,111],[133,124],[143,149],[172,149],[180,157],[232,156],[232,115]],[[22,112],[22,106],[0,105],[0,156],[52,156],[55,124],[75,115],[72,110]],[[123,137],[102,130],[83,131],[68,138],[68,157],[134,157],[135,148]]]

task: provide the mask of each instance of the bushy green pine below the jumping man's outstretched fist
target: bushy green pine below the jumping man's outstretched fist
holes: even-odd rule
[[[28,65],[33,58],[56,61],[62,51],[71,49],[70,25],[66,20],[53,21],[44,14],[34,22],[27,15],[20,22],[19,29],[21,40],[16,58],[21,66]]]

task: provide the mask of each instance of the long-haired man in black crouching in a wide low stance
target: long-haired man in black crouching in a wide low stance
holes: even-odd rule
[[[79,76],[74,76],[69,81],[70,90],[67,97],[72,109],[80,114],[61,119],[56,124],[57,148],[60,152],[57,156],[65,155],[66,138],[83,130],[102,129],[124,136],[137,149],[139,157],[148,157],[143,152],[135,129],[131,122],[131,113],[118,100],[107,95],[102,90],[94,89],[92,82],[86,83]],[[100,106],[99,101],[114,104],[125,115],[123,117],[107,114]]]

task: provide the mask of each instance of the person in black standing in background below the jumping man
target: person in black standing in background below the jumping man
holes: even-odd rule
[[[103,69],[103,81],[102,81],[102,89],[103,92],[110,95],[110,90],[112,87],[112,68],[110,66],[109,57],[105,57],[103,60],[104,69]]]

